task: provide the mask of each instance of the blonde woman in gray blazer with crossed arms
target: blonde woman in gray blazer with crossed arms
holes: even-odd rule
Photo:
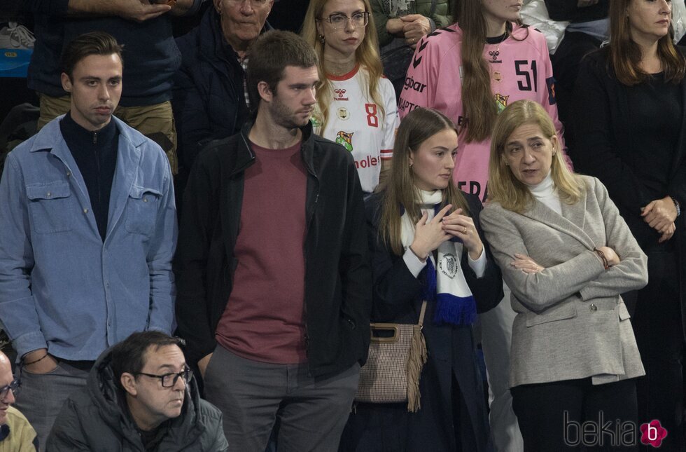
[[[577,450],[587,438],[566,426],[598,416],[636,425],[644,371],[619,294],[646,284],[646,257],[605,186],[569,172],[538,103],[498,117],[489,196],[482,227],[517,312],[510,387],[524,449]]]

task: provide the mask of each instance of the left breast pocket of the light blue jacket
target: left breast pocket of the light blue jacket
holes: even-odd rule
[[[50,234],[71,231],[73,228],[73,203],[69,182],[56,181],[26,186],[29,198],[29,214],[34,231]]]

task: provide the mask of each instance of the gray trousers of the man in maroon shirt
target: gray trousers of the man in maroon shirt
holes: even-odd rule
[[[307,364],[244,359],[221,345],[205,371],[205,397],[221,409],[232,451],[263,452],[278,422],[279,452],[337,451],[360,378],[360,365],[324,381]]]

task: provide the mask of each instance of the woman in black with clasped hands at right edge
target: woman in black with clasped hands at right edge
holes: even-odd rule
[[[646,371],[639,420],[658,419],[670,451],[684,450],[685,70],[669,1],[610,2],[610,46],[589,55],[577,79],[572,153],[577,170],[607,186],[648,256],[648,285],[633,294]]]

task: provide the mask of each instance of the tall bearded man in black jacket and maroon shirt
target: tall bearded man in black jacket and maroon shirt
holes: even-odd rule
[[[369,343],[371,274],[351,155],[312,134],[316,55],[255,41],[253,120],[198,156],[176,254],[179,334],[237,451],[336,450]]]

